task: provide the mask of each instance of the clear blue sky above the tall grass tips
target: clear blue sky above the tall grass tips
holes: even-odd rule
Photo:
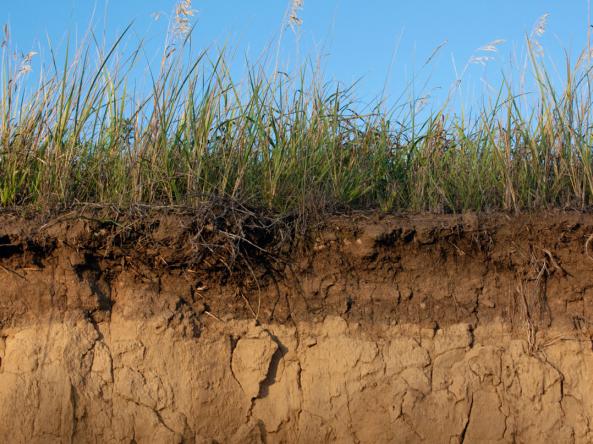
[[[133,21],[133,38],[145,39],[147,52],[156,55],[175,3],[0,0],[0,23],[10,24],[12,45],[23,53],[43,53],[49,37],[60,54],[66,35],[82,35],[91,21],[107,42]],[[254,61],[278,39],[288,3],[194,0],[192,6],[198,10],[194,44],[204,48],[226,44],[240,56],[236,63],[242,63],[244,54]],[[158,21],[154,13],[161,14]],[[388,94],[397,96],[412,75],[417,84],[414,94],[438,97],[472,56],[495,57],[486,66],[471,64],[464,75],[467,88],[479,96],[487,83],[499,86],[496,80],[503,67],[521,63],[525,35],[546,13],[550,14],[547,29],[540,40],[546,59],[558,65],[560,78],[565,69],[564,51],[574,60],[586,47],[587,0],[305,0],[302,25],[297,35],[292,31],[284,35],[281,59],[288,64],[307,55],[322,56],[328,78],[346,84],[362,79],[358,95],[372,100],[386,82]],[[476,52],[497,39],[506,41],[498,52]]]

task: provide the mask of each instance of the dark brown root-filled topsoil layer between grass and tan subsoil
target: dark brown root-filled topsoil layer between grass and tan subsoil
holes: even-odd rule
[[[434,328],[502,318],[522,331],[590,329],[591,214],[355,213],[295,226],[213,205],[5,211],[0,328],[71,312],[99,322],[121,304],[125,316],[164,313],[192,334],[209,322],[328,314]]]

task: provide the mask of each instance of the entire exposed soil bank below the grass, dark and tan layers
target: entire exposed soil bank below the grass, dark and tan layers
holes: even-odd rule
[[[593,442],[593,216],[241,214],[0,216],[0,441]]]

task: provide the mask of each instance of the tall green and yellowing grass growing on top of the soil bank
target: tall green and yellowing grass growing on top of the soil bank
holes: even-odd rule
[[[279,214],[593,204],[588,67],[567,61],[554,87],[529,40],[537,98],[526,106],[505,81],[469,118],[448,102],[430,114],[414,101],[362,107],[355,88],[307,67],[289,76],[252,66],[236,81],[223,53],[188,58],[189,40],[140,96],[131,73],[142,47],[124,53],[125,38],[83,45],[60,66],[52,54],[26,93],[24,65],[3,49],[1,206],[196,206],[217,196]]]

